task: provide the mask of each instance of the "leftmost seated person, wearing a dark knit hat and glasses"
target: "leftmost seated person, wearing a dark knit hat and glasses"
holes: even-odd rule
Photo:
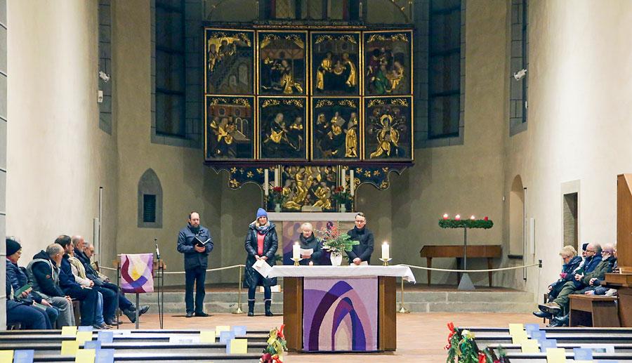
[[[27,275],[18,267],[18,260],[22,256],[22,246],[15,237],[6,238],[6,282],[11,284],[13,293],[7,295],[8,299],[13,299],[23,305],[34,306],[34,303],[40,304],[41,308],[38,310],[46,314],[46,326],[44,329],[53,329],[53,324],[59,315],[59,310],[53,307],[51,303],[41,298],[41,296],[32,291],[32,287],[29,287],[26,291],[22,291],[19,296],[14,296],[16,291],[19,291],[24,286],[28,286],[29,279]]]

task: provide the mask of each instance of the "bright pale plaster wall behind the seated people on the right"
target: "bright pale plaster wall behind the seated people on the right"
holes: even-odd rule
[[[535,218],[529,291],[544,292],[561,266],[562,183],[579,180],[579,242],[614,242],[616,176],[632,170],[632,3],[529,5],[529,123],[509,138],[505,189],[520,174]],[[508,133],[507,133],[508,134]]]

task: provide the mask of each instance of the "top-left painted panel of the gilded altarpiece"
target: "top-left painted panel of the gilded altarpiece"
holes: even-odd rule
[[[204,29],[206,94],[254,94],[254,32]]]

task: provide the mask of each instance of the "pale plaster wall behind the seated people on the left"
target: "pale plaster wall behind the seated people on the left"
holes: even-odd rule
[[[10,1],[8,23],[7,234],[22,264],[60,234],[91,240],[103,186],[112,258],[117,143],[116,127],[98,127],[97,1]]]

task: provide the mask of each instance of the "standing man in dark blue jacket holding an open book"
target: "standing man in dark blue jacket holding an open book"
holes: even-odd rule
[[[209,253],[213,250],[211,232],[199,225],[199,213],[189,213],[186,227],[178,234],[178,252],[184,253],[186,317],[208,317],[204,312],[204,280],[209,265]],[[195,284],[195,311],[193,309],[193,284]]]

